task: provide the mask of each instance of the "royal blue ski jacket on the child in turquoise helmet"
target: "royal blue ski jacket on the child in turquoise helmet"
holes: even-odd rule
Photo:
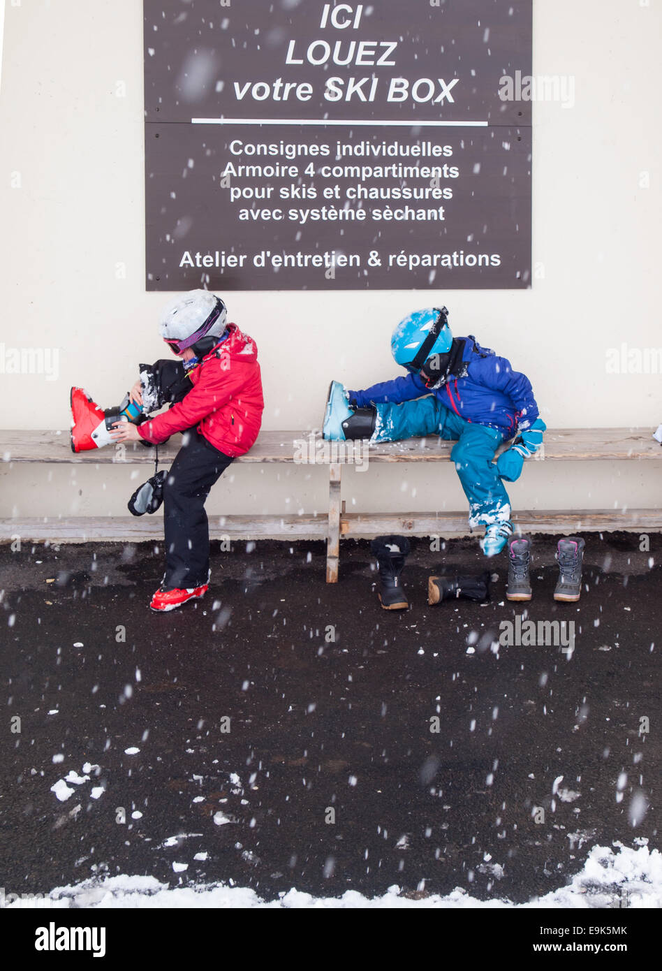
[[[465,421],[497,428],[506,439],[538,418],[539,411],[531,382],[513,371],[506,357],[481,348],[473,336],[464,340],[464,376],[450,376],[441,387],[430,388],[417,374],[395,378],[363,391],[349,391],[349,401],[358,408],[379,404],[402,404],[434,394],[451,412]]]

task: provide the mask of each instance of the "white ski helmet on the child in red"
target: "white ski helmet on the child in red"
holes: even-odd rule
[[[225,329],[225,304],[209,290],[189,290],[163,310],[159,333],[176,354],[209,353]]]

